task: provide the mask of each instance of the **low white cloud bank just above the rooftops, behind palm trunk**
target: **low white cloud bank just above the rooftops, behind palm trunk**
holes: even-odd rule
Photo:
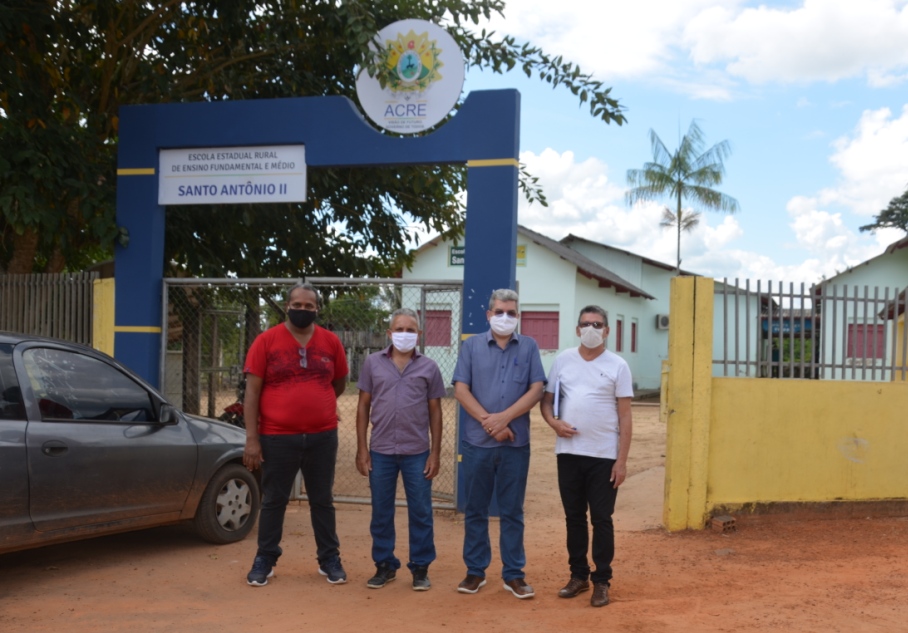
[[[609,179],[608,166],[595,158],[577,163],[572,152],[546,149],[522,152],[520,160],[539,178],[549,207],[521,199],[521,224],[559,240],[569,233],[673,264],[677,234],[662,229],[662,205],[624,204],[623,185]],[[737,217],[704,213],[700,224],[681,236],[681,266],[699,274],[729,279],[761,279],[806,284],[879,255],[900,231],[875,236],[846,226],[841,213],[824,210],[820,196],[797,196],[787,206],[790,237],[782,235],[803,261],[785,265],[772,257],[736,248],[744,238]]]

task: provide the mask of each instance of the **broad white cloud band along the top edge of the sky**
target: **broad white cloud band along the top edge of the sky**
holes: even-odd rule
[[[784,5],[756,0],[509,0],[506,19],[485,26],[563,55],[601,80],[648,77],[699,98],[730,98],[731,89],[724,85],[730,78],[760,84],[866,77],[874,87],[908,79],[905,0]],[[698,70],[684,69],[682,62]],[[703,81],[699,74],[710,67],[726,78]]]

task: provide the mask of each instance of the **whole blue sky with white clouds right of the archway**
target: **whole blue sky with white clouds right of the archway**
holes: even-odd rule
[[[466,92],[521,92],[521,161],[550,205],[522,202],[521,224],[673,263],[661,205],[625,205],[626,172],[651,158],[651,128],[674,150],[697,119],[708,145],[732,145],[719,189],[740,211],[704,212],[684,269],[810,283],[903,236],[858,227],[908,188],[908,0],[508,0],[505,15],[484,26],[578,63],[628,118],[605,125],[519,72],[469,72]]]

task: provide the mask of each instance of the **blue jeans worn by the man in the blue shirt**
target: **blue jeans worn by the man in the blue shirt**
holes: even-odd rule
[[[461,443],[461,468],[466,487],[464,507],[463,562],[467,573],[485,577],[492,562],[489,541],[489,505],[492,492],[498,497],[501,513],[501,577],[505,582],[523,578],[526,552],[523,549],[523,501],[530,469],[530,446],[481,448]]]

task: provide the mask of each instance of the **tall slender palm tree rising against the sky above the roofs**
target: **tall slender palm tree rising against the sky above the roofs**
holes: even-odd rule
[[[677,268],[681,272],[681,232],[690,231],[700,221],[698,211],[682,208],[683,202],[697,204],[710,211],[735,213],[738,201],[712,187],[722,184],[725,175],[725,159],[731,154],[731,145],[722,141],[703,151],[703,132],[696,121],[692,121],[687,134],[674,154],[655,131],[649,131],[653,161],[643,169],[628,169],[627,184],[631,187],[627,203],[633,205],[642,201],[668,199],[675,210],[665,207],[660,226],[674,226],[678,230]]]

